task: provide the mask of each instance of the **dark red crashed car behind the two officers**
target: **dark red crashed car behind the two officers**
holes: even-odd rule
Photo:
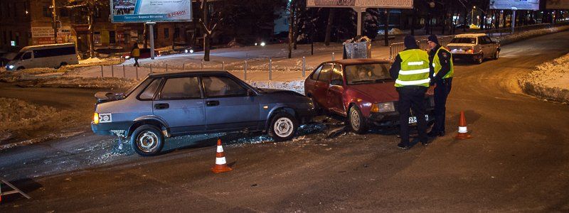
[[[374,59],[324,62],[304,81],[304,94],[317,109],[347,117],[356,133],[365,133],[370,126],[397,126],[399,94],[389,75],[390,65],[388,60]],[[430,92],[425,102],[425,117],[432,124],[435,101]],[[409,123],[417,123],[413,112]]]

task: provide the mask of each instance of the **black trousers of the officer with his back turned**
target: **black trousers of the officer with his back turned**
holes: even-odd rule
[[[427,142],[427,120],[425,119],[425,92],[427,87],[406,86],[398,87],[399,92],[399,135],[401,143],[409,145],[409,116],[413,110],[413,116],[417,117],[419,140]]]

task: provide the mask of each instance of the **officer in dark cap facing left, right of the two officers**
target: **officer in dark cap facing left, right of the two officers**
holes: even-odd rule
[[[454,65],[452,54],[439,44],[437,35],[430,35],[427,39],[429,51],[431,85],[435,86],[435,124],[427,136],[445,136],[445,117],[447,111],[447,97],[452,87]]]

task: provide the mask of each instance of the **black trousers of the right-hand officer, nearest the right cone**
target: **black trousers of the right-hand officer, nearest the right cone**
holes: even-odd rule
[[[447,97],[452,88],[452,77],[445,78],[437,82],[435,87],[435,125],[431,131],[444,132],[445,118],[447,116]]]

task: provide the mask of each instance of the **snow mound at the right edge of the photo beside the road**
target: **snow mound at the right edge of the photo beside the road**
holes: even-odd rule
[[[538,65],[537,70],[519,78],[523,92],[569,103],[569,54]]]

